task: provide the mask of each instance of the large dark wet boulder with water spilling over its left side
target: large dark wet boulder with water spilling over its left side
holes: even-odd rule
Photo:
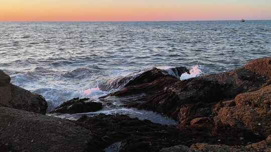
[[[180,80],[175,76],[163,74],[161,69],[153,68],[133,78],[122,89],[101,99],[118,100],[128,107],[154,110],[190,123],[193,118],[211,115],[211,108],[215,103],[232,99],[239,93],[259,89],[267,80],[268,77],[244,67],[187,80]],[[189,111],[197,115],[182,117],[183,114],[179,114],[182,108],[190,106],[192,108],[188,110],[202,112]]]

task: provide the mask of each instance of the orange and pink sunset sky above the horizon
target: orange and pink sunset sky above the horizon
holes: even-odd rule
[[[0,21],[271,19],[271,0],[0,0]]]

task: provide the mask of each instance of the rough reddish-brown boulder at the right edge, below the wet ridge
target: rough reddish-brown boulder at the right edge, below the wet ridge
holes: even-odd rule
[[[216,123],[248,129],[265,137],[271,134],[271,85],[238,94],[234,101],[235,106],[219,109]]]

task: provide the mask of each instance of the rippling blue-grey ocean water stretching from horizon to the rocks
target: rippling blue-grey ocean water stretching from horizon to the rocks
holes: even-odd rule
[[[270,55],[271,20],[0,22],[0,68],[50,109],[138,70],[198,64],[209,74]]]

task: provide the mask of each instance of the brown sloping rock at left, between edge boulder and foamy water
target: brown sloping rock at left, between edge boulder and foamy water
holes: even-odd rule
[[[42,95],[32,93],[24,88],[11,84],[12,99],[9,107],[37,113],[46,113],[48,104]]]

